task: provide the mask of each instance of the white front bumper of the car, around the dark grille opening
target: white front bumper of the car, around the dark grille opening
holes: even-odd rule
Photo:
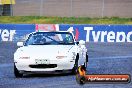
[[[50,60],[50,64],[42,64],[38,65],[35,63],[35,60],[30,59],[17,59],[14,61],[16,68],[19,71],[23,72],[59,72],[59,71],[65,71],[69,69],[73,69],[75,62],[73,60]]]

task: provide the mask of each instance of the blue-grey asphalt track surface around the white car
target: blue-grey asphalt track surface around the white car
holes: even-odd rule
[[[132,75],[132,43],[88,43],[88,74]],[[75,75],[43,74],[15,78],[13,53],[15,43],[0,43],[0,88],[132,88],[128,84],[84,84],[76,83]]]

